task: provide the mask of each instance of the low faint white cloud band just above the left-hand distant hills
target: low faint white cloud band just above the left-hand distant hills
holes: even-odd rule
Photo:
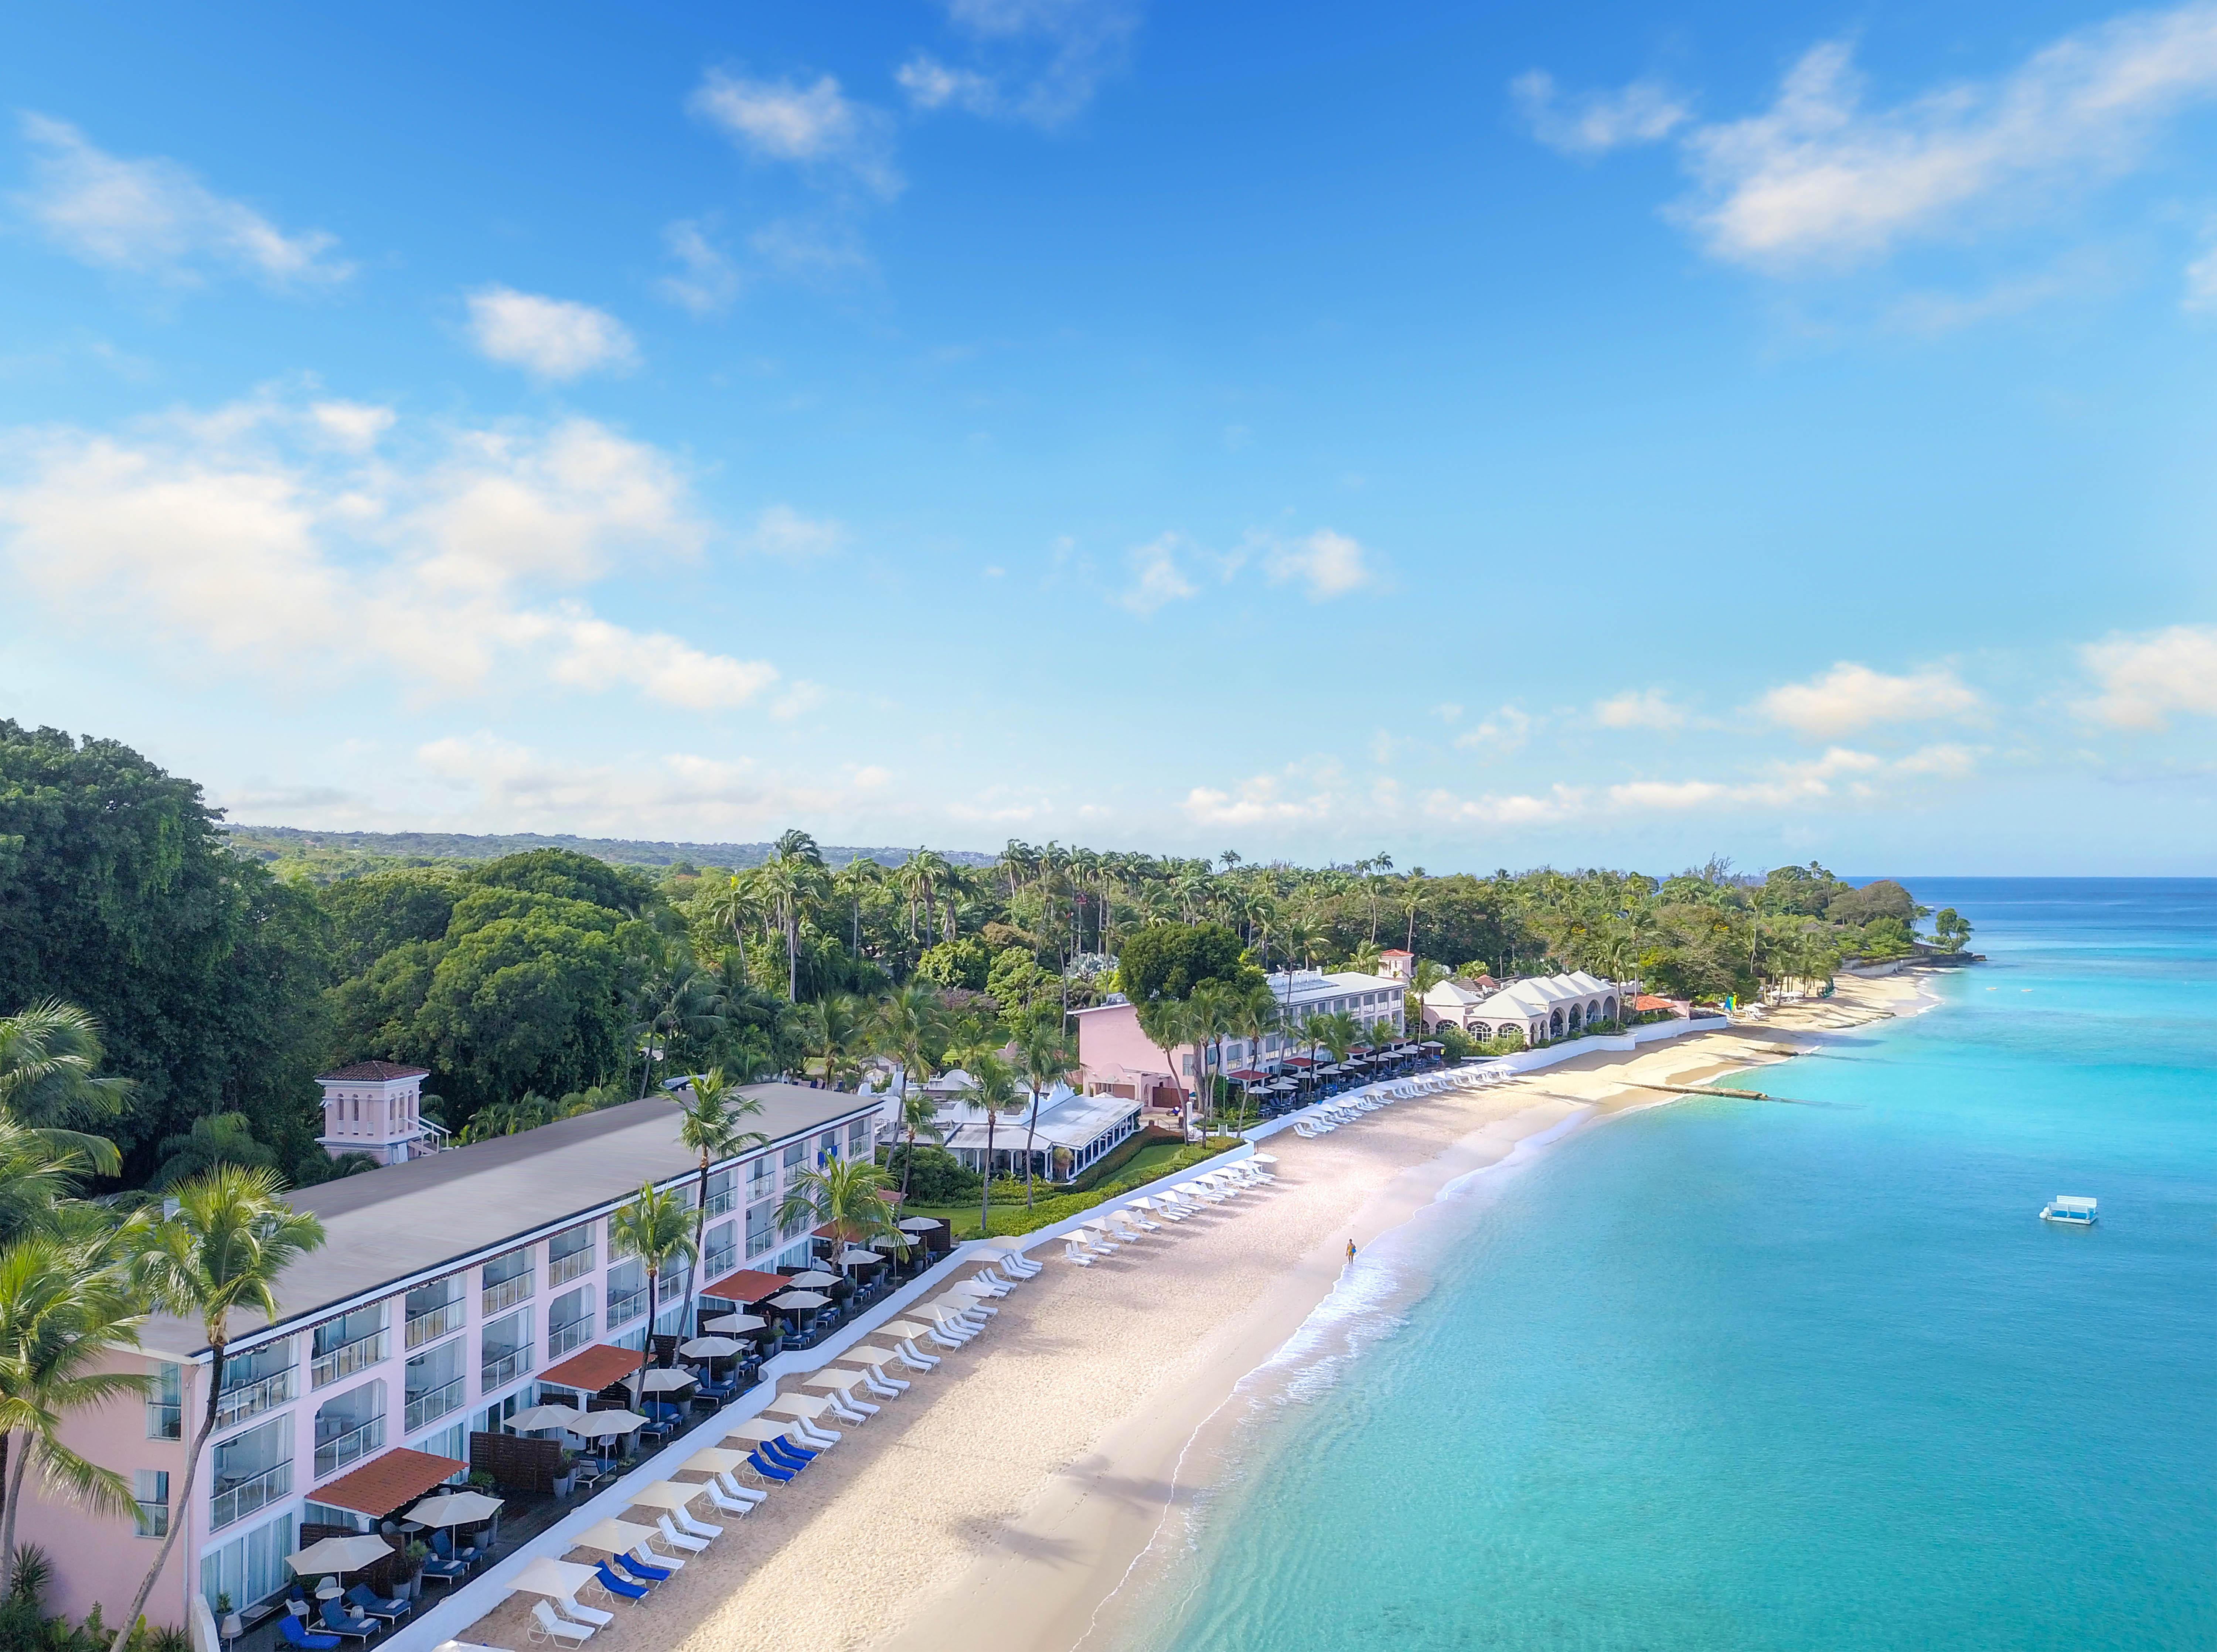
[[[459,734],[417,749],[417,765],[463,794],[470,820],[508,829],[654,829],[681,838],[767,836],[794,820],[851,823],[900,812],[891,774],[849,765],[807,783],[747,758],[636,752],[610,763],[545,756],[494,734]]]

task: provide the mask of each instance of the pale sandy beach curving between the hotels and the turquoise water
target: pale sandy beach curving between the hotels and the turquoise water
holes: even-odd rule
[[[1842,978],[1836,998],[1758,1027],[1397,1102],[1315,1142],[1286,1131],[1268,1142],[1279,1184],[1266,1193],[1091,1268],[1042,1244],[1046,1273],[995,1304],[982,1337],[933,1348],[938,1370],[754,1515],[712,1517],[725,1537],[643,1605],[619,1603],[594,1652],[1069,1652],[1171,1499],[1191,1495],[1191,1461],[1177,1481],[1188,1441],[1332,1291],[1350,1240],[1366,1246],[1574,1115],[1676,1100],[1643,1082],[1785,1060],[1918,1000],[1913,978]],[[521,1648],[532,1599],[463,1639]]]

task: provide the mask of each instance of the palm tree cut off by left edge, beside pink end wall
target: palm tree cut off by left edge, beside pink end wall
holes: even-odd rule
[[[58,1235],[0,1251],[0,1601],[13,1585],[16,1512],[38,1468],[40,1486],[100,1515],[129,1515],[131,1488],[62,1444],[62,1419],[146,1393],[149,1377],[100,1370],[137,1348],[144,1311],[118,1262],[118,1228],[91,1246]]]

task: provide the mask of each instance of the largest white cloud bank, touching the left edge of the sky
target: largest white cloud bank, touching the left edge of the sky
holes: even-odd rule
[[[191,674],[213,661],[410,701],[523,679],[685,710],[778,681],[583,603],[619,563],[707,537],[654,448],[590,419],[401,435],[395,457],[388,410],[275,397],[122,435],[16,432],[0,548],[53,623],[160,643]]]

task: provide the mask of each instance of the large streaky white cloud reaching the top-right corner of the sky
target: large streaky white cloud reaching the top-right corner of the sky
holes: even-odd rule
[[[1712,253],[1758,268],[1876,257],[2128,173],[2213,95],[2213,4],[2115,18],[1889,109],[1864,106],[1849,47],[1829,42],[1765,113],[1687,135],[1698,193],[1680,211]]]

